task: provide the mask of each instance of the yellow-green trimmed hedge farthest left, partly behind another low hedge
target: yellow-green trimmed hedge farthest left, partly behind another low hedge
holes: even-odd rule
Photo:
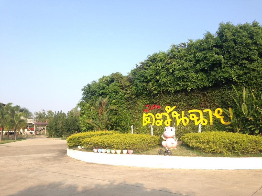
[[[67,146],[68,147],[82,146],[82,141],[86,138],[90,138],[93,136],[101,136],[101,135],[111,135],[117,133],[119,132],[118,131],[89,131],[89,132],[73,134],[67,138]]]

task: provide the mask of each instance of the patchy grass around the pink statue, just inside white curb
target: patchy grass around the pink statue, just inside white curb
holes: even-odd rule
[[[77,147],[74,147],[75,150],[78,150]],[[158,155],[158,151],[162,149],[162,154],[164,155],[164,148],[162,145],[157,146],[156,148],[150,149],[149,151],[145,152],[133,152],[133,154],[149,154],[149,155]],[[88,151],[88,152],[93,152],[93,149],[81,149],[82,151]],[[177,149],[172,149],[171,150],[172,154],[171,156],[184,156],[184,157],[262,157],[262,153],[257,153],[257,154],[233,154],[233,155],[228,155],[224,156],[223,154],[217,154],[217,153],[206,153],[206,152],[199,152],[194,150],[193,148],[190,148],[187,145],[184,144],[179,144],[177,145]]]

